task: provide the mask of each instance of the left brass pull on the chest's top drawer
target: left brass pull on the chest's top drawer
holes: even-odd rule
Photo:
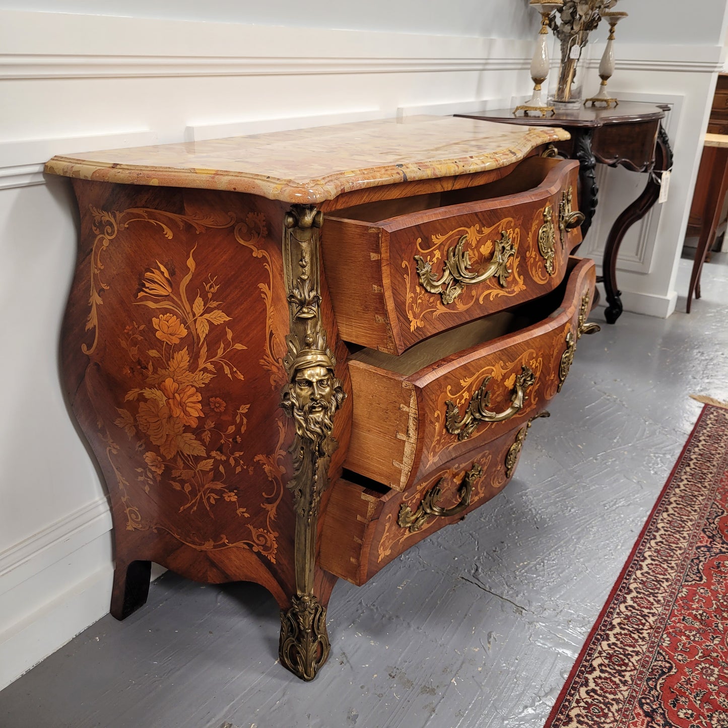
[[[417,275],[422,288],[428,293],[440,293],[443,304],[451,304],[464,290],[466,285],[482,283],[488,278],[498,277],[498,282],[505,288],[506,279],[511,274],[508,261],[515,256],[515,243],[510,235],[501,232],[500,240],[495,242],[493,258],[488,267],[480,273],[470,270],[470,253],[464,250],[467,235],[463,235],[452,248],[448,248],[443,274],[435,280],[432,264],[422,256],[414,256],[417,261]]]

